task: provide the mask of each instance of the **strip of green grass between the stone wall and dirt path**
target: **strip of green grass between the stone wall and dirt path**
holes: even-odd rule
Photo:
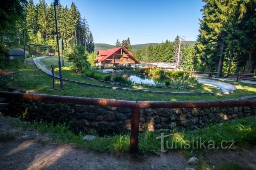
[[[91,131],[87,134],[80,132],[75,135],[69,126],[65,124],[57,124],[53,126],[53,123],[46,123],[37,121],[29,122],[23,124],[27,129],[36,128],[41,133],[47,133],[53,140],[57,143],[73,143],[78,148],[87,148],[90,150],[98,152],[114,152],[114,153],[127,153],[129,152],[129,141],[130,133],[120,133],[114,135],[103,135],[99,136],[97,131]],[[185,140],[192,140],[194,138],[202,138],[203,140],[214,140],[216,147],[220,146],[220,141],[222,140],[235,140],[234,146],[236,148],[243,148],[247,145],[255,144],[256,140],[256,118],[247,117],[230,122],[223,122],[222,126],[218,124],[209,124],[203,129],[197,129],[195,131],[176,131],[165,133],[171,134],[175,133],[175,136],[171,139],[173,141],[178,141],[178,144],[183,143]],[[96,139],[93,141],[84,141],[82,138],[85,135],[95,135]],[[156,137],[160,136],[160,133],[156,132],[140,132],[139,133],[139,153],[160,153],[160,139],[156,140]],[[165,138],[166,141],[170,141],[170,138]],[[180,150],[180,148],[177,148]],[[174,149],[174,150],[177,150]],[[188,149],[185,150],[189,157],[198,154],[200,149]]]

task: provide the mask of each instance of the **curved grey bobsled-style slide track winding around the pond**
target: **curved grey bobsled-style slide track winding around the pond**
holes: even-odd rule
[[[50,56],[42,56],[42,57],[36,57],[33,59],[34,63],[38,67],[38,69],[42,70],[49,76],[52,76],[51,70],[41,61],[41,59],[44,59],[46,57]],[[55,78],[60,78],[58,75],[54,74]],[[121,88],[121,87],[111,87],[111,86],[105,86],[105,85],[95,85],[95,84],[90,84],[90,83],[82,83],[78,81],[73,81],[73,80],[68,80],[64,79],[64,81],[69,81],[72,83],[78,83],[82,85],[91,85],[95,87],[103,87],[103,88],[109,88],[109,89],[120,89],[124,91],[133,91],[133,92],[149,92],[149,93],[156,93],[156,94],[172,94],[172,95],[196,95],[196,96],[208,96],[208,95],[214,95],[217,93],[189,93],[189,92],[160,92],[160,91],[151,91],[151,90],[138,90],[138,89],[128,89],[128,88]],[[236,90],[236,86],[231,85],[229,83],[224,83],[220,81],[214,81],[210,79],[205,79],[205,78],[198,78],[198,81],[200,83],[206,83],[210,85],[214,85],[216,87],[219,87],[221,89],[220,93],[227,93],[227,92],[233,92]]]

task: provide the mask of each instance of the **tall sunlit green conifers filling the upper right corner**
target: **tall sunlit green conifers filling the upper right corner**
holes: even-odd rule
[[[248,52],[255,55],[256,1],[203,0],[200,34],[195,45],[194,68],[196,70],[223,72],[231,69],[223,62],[232,55],[231,65],[243,67],[248,63]],[[247,64],[247,72],[254,72],[255,60]],[[224,65],[225,67],[225,65]],[[208,68],[208,69],[207,69]],[[233,68],[233,71],[235,69]]]

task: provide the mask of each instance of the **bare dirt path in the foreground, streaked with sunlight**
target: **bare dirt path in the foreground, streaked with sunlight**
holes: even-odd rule
[[[49,139],[34,129],[15,126],[18,119],[0,115],[0,133],[17,133],[13,140],[0,139],[0,170],[69,170],[69,169],[170,169],[185,170],[187,160],[180,152],[157,155],[136,156],[129,154],[95,153],[78,150],[71,144],[41,142]],[[41,141],[40,141],[41,140]],[[238,163],[256,169],[256,148],[245,150],[206,150],[198,157],[207,164],[221,166],[225,163]],[[196,168],[196,166],[194,166]],[[206,169],[206,168],[205,168]]]

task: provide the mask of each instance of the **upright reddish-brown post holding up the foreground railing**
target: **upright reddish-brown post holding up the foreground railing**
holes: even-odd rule
[[[138,152],[139,127],[140,127],[140,109],[133,108],[131,112],[131,138],[130,138],[130,153],[132,154]]]

